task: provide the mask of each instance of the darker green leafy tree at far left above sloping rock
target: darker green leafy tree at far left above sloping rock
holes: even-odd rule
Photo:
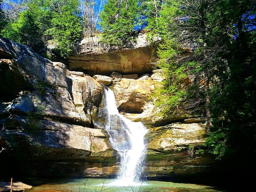
[[[49,25],[49,9],[46,8],[46,3],[42,0],[32,0],[26,4],[11,6],[11,9],[14,11],[6,10],[9,22],[2,31],[3,37],[25,44],[32,47],[35,52],[44,54],[47,41],[44,32]],[[22,12],[18,14],[17,10]],[[15,17],[14,13],[16,13]]]

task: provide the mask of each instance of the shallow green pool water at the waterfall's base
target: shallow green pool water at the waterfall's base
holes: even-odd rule
[[[200,184],[153,180],[124,184],[115,181],[101,178],[63,179],[47,184],[31,184],[33,188],[26,192],[221,192],[215,187]]]

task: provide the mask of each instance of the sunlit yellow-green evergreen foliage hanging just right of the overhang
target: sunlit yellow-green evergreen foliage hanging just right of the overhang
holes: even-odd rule
[[[167,117],[183,115],[185,111],[186,114],[200,113],[201,104],[193,100],[195,97],[199,97],[198,100],[201,100],[203,96],[200,91],[196,90],[196,84],[186,85],[186,81],[190,81],[191,75],[198,75],[202,70],[199,62],[192,59],[187,61],[180,59],[183,50],[180,50],[179,42],[175,39],[172,29],[176,22],[175,18],[181,14],[178,5],[178,1],[168,1],[158,11],[159,17],[155,21],[155,26],[150,23],[148,25],[151,28],[151,32],[148,33],[150,39],[154,39],[155,34],[162,37],[162,43],[158,49],[158,67],[164,70],[167,80],[163,82],[164,88],[160,88],[157,92],[160,97],[157,105],[163,108],[162,112]],[[186,55],[187,58],[189,58],[189,54]]]

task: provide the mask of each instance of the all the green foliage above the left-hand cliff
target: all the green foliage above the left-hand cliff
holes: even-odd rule
[[[44,51],[52,39],[61,56],[66,57],[82,33],[78,0],[31,0],[17,20],[2,30],[3,37]]]

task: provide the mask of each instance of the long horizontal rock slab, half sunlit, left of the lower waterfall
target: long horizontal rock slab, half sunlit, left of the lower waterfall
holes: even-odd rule
[[[12,138],[10,138],[8,132],[12,131]],[[30,159],[41,160],[44,159],[62,159],[62,158],[82,158],[90,156],[92,143],[94,138],[98,137],[98,145],[101,148],[97,150],[94,148],[94,152],[105,151],[110,149],[110,145],[105,143],[105,138],[108,134],[104,130],[92,129],[79,125],[71,125],[67,123],[58,123],[49,120],[38,120],[31,117],[11,116],[5,121],[5,130],[1,133],[2,138],[5,138],[10,146],[16,146],[17,139],[23,141],[23,146],[31,145],[41,146],[41,150],[47,148],[53,148],[53,153],[47,152],[46,154],[40,154],[35,152],[31,155]],[[21,139],[23,137],[23,139]],[[17,138],[17,139],[14,139]],[[23,150],[25,154],[28,153],[30,148],[23,148],[20,146],[20,150]],[[65,156],[56,151],[64,151],[64,149],[74,149],[73,154]],[[82,150],[82,151],[81,151]],[[77,151],[77,153],[75,153]],[[56,156],[57,155],[57,156]]]

